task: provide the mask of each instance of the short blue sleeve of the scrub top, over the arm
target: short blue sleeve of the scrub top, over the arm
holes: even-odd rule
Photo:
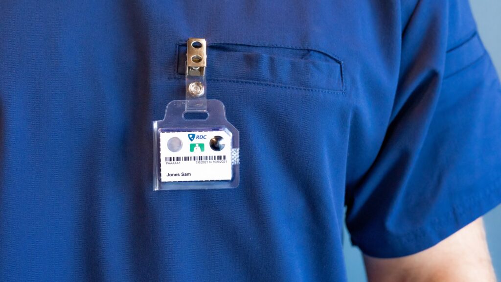
[[[418,1],[401,40],[385,139],[347,207],[375,257],[429,248],[501,200],[501,86],[467,0]]]

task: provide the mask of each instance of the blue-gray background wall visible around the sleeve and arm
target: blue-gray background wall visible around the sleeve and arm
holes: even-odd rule
[[[501,74],[501,0],[470,0],[478,32],[489,52],[497,73]],[[499,144],[501,146],[501,144]],[[501,205],[484,217],[492,263],[501,279]],[[367,281],[360,251],[350,244],[345,228],[344,251],[348,281]]]

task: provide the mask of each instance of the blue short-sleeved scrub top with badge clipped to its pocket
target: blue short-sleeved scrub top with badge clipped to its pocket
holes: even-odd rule
[[[9,1],[0,279],[344,281],[501,200],[501,86],[466,0]],[[240,185],[153,191],[188,37]]]

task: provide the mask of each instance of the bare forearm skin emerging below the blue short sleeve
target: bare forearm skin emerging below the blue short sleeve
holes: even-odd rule
[[[370,282],[496,280],[481,218],[416,254],[364,261]]]

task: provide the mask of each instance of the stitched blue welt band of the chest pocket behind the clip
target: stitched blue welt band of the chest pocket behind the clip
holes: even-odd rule
[[[344,92],[342,61],[320,50],[234,43],[207,47],[207,80]],[[177,51],[177,75],[184,76],[186,44],[178,44]]]

